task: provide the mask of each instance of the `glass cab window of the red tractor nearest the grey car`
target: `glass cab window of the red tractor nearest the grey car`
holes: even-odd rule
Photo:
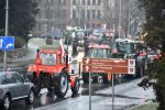
[[[56,65],[56,54],[40,53],[40,58],[43,65]]]

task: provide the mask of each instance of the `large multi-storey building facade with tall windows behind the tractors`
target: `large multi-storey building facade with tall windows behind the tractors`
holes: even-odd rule
[[[36,18],[36,33],[56,32],[66,25],[96,29],[106,23],[106,0],[42,0]],[[113,1],[113,0],[107,0]],[[107,2],[106,2],[107,3]]]

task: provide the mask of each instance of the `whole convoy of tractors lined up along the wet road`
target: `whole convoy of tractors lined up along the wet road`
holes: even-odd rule
[[[64,34],[61,40],[41,38],[40,41],[42,45],[36,51],[35,63],[28,68],[28,76],[35,85],[35,95],[38,95],[42,88],[47,88],[50,92],[64,97],[69,88],[68,86],[70,86],[73,94],[78,92],[80,78],[84,82],[89,81],[89,74],[81,72],[80,67],[78,68],[79,73],[74,73],[68,61],[68,45],[72,45],[74,54],[78,53],[78,47],[84,48],[84,57],[133,58],[136,64],[135,74],[125,75],[125,77],[136,78],[144,75],[146,54],[142,55],[145,50],[142,41],[114,38],[114,33],[110,31],[77,29],[66,31],[67,34]],[[106,73],[96,73],[91,78],[92,82],[109,81]]]

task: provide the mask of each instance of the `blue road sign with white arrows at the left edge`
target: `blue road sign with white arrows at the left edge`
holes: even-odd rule
[[[12,37],[12,36],[0,36],[0,50],[13,51],[14,50],[14,37]]]

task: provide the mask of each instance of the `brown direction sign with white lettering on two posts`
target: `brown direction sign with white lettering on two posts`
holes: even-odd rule
[[[120,58],[82,58],[82,72],[135,74],[134,59]]]

